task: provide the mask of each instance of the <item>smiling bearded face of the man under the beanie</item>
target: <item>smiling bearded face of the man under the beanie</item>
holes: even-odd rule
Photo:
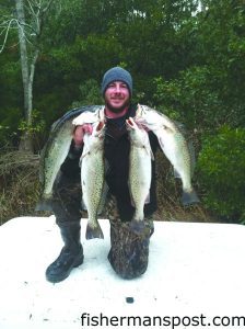
[[[114,81],[105,91],[105,104],[115,113],[119,113],[129,105],[130,92],[128,86],[122,81]]]

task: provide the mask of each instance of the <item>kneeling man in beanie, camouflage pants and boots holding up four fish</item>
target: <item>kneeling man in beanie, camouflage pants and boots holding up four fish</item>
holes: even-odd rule
[[[149,242],[153,234],[152,215],[156,211],[155,168],[152,162],[150,203],[144,205],[144,229],[136,234],[130,228],[135,207],[131,204],[128,174],[130,141],[126,129],[126,118],[136,115],[131,104],[132,78],[120,68],[109,69],[102,81],[105,100],[106,133],[104,141],[105,158],[108,162],[106,182],[109,188],[104,216],[110,222],[110,250],[108,260],[115,272],[125,279],[143,274],[148,266]],[[60,282],[69,276],[71,270],[83,262],[80,242],[81,182],[79,159],[83,148],[84,134],[92,133],[92,126],[78,126],[70,152],[61,166],[61,175],[54,192],[54,213],[65,242],[59,257],[47,268],[46,277]],[[153,154],[158,148],[156,137],[149,132]]]

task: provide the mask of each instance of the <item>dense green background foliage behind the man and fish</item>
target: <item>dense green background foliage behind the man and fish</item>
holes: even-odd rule
[[[3,19],[13,14],[13,1],[0,0],[0,11]],[[0,54],[3,155],[7,146],[18,147],[23,129],[32,131],[38,155],[51,123],[74,106],[102,103],[103,73],[121,65],[133,76],[133,101],[189,131],[203,207],[215,218],[244,222],[243,0],[57,0],[43,29],[32,127],[23,122],[16,31]],[[8,194],[5,180],[0,182]],[[176,183],[167,184],[173,192]],[[167,193],[161,195],[167,200]]]

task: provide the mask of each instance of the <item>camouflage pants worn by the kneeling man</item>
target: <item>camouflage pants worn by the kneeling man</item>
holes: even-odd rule
[[[84,217],[81,211],[81,183],[75,178],[61,174],[55,184],[52,211],[59,227],[72,225]],[[145,218],[145,227],[140,234],[130,228],[129,222],[120,220],[116,200],[109,195],[101,215],[110,223],[110,250],[108,260],[115,272],[124,279],[133,279],[143,274],[148,268],[149,243],[153,234],[152,218]]]

